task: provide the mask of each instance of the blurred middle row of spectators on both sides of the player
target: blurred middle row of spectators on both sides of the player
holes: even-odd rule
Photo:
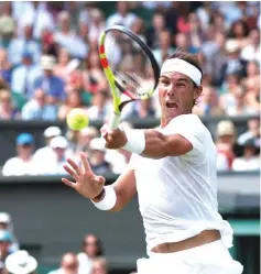
[[[130,122],[122,127],[132,128]],[[106,150],[105,140],[98,129],[87,127],[80,131],[68,130],[63,134],[58,127],[48,127],[43,132],[45,146],[35,150],[31,133],[17,136],[17,156],[7,160],[2,166],[3,176],[66,175],[63,166],[68,157],[80,163],[79,152],[86,153],[94,173],[121,174],[128,167],[131,153],[124,150]],[[217,169],[260,171],[260,119],[250,118],[248,129],[239,134],[231,120],[221,120],[215,132],[217,146]]]

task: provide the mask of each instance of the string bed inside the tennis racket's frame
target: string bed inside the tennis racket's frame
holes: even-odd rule
[[[132,97],[140,98],[154,89],[155,81],[148,77],[148,72],[153,70],[151,61],[129,35],[116,30],[108,32],[105,53],[116,80]]]

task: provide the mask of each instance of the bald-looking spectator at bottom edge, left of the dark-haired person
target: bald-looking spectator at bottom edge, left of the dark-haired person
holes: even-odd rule
[[[51,271],[48,274],[79,274],[79,262],[74,253],[65,253],[61,261],[59,268]]]

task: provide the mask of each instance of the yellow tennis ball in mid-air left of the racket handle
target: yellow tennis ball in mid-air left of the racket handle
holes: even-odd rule
[[[72,109],[67,114],[66,122],[72,130],[83,130],[88,125],[89,119],[83,109]]]

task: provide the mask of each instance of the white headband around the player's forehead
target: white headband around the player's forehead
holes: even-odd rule
[[[164,73],[176,72],[189,77],[197,86],[202,84],[202,73],[198,68],[184,59],[172,58],[163,63],[161,75]]]

